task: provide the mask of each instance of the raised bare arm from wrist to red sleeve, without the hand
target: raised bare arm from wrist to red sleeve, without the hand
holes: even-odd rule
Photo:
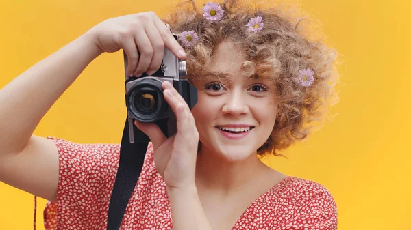
[[[42,117],[101,50],[88,33],[0,90],[0,181],[55,201],[58,149],[32,136]]]

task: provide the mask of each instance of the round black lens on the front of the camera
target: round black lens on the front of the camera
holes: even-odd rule
[[[132,117],[151,122],[164,115],[168,105],[161,84],[154,78],[141,78],[127,91],[127,109]]]

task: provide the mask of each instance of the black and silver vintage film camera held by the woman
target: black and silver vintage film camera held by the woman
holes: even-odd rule
[[[173,31],[171,31],[173,33]],[[177,35],[174,38],[177,40]],[[124,64],[127,68],[127,55]],[[197,89],[186,78],[186,61],[181,61],[164,49],[160,69],[147,76],[129,78],[125,74],[125,104],[127,106],[130,143],[149,142],[149,137],[134,125],[134,119],[142,122],[155,122],[168,137],[177,132],[175,114],[164,99],[162,82],[169,81],[187,102],[190,109],[197,103]]]

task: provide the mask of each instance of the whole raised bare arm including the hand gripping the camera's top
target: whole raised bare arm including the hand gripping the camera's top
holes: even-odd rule
[[[158,70],[164,46],[186,57],[153,12],[110,18],[40,61],[0,90],[0,181],[55,201],[58,149],[33,136],[42,117],[88,64],[103,52],[123,49],[126,74]],[[140,51],[140,55],[138,54]]]

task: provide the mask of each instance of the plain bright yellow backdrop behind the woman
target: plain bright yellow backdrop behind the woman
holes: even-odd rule
[[[1,0],[0,87],[101,20],[148,10],[162,16],[164,3]],[[326,186],[338,205],[338,229],[411,229],[410,3],[300,3],[321,20],[329,41],[344,56],[341,100],[332,109],[338,115],[291,147],[285,153],[290,160],[265,162]],[[122,54],[103,54],[58,100],[35,134],[119,143],[126,112],[123,95]],[[0,183],[0,229],[32,229],[33,204],[32,195]],[[40,199],[38,229],[43,229],[44,205]]]

